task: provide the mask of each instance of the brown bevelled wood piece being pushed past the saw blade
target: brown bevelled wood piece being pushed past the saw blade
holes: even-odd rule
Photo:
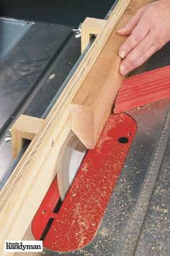
[[[130,1],[128,9],[110,35],[89,74],[71,103],[71,129],[86,148],[93,149],[112,111],[122,84],[118,51],[127,38],[117,34],[140,7],[151,1]],[[103,28],[103,33],[105,27]]]

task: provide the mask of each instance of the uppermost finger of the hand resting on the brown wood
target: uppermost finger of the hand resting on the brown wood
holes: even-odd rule
[[[122,27],[120,30],[117,30],[117,33],[120,35],[130,35],[134,27],[138,24],[138,21],[140,20],[140,17],[142,16],[143,12],[144,8],[138,10],[138,12],[133,16],[130,22],[128,22],[127,25],[125,25],[125,27]]]

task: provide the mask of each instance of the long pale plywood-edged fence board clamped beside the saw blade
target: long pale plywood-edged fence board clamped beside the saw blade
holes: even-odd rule
[[[8,182],[1,190],[0,226],[3,229],[0,233],[0,255],[4,255],[4,240],[22,239],[40,202],[50,187],[57,172],[58,153],[71,130],[71,101],[128,3],[129,0],[119,1],[103,32],[99,34],[45,119],[45,125],[37,132]]]

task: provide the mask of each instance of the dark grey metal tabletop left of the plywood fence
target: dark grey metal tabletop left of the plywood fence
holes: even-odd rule
[[[24,25],[1,19],[6,21],[12,27]],[[0,181],[12,162],[6,132],[20,114],[42,116],[80,55],[73,27],[38,22],[26,26],[27,33],[16,33],[19,40],[6,56],[4,49],[0,63]]]

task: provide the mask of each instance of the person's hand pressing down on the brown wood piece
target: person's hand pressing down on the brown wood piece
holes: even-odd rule
[[[139,67],[170,40],[170,0],[154,1],[138,10],[120,35],[130,35],[120,47],[120,74]]]

